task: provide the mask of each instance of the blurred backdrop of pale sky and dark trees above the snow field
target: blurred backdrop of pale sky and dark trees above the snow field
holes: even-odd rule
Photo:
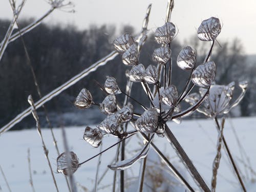
[[[66,82],[74,75],[88,68],[94,62],[113,51],[112,42],[124,32],[136,35],[140,32],[148,4],[152,3],[148,39],[142,49],[139,62],[144,66],[154,64],[152,53],[159,47],[154,40],[157,27],[164,24],[167,1],[72,1],[74,8],[54,10],[39,26],[24,35],[24,40],[38,80],[42,95]],[[8,30],[12,19],[9,1],[0,3],[0,39]],[[228,84],[231,81],[248,80],[249,86],[240,105],[234,108],[231,116],[254,116],[256,114],[256,6],[254,1],[177,1],[175,2],[171,21],[177,26],[178,35],[172,42],[173,83],[181,92],[188,78],[188,72],[180,70],[176,59],[180,50],[189,45],[197,50],[197,65],[200,65],[210,48],[210,42],[197,38],[197,28],[202,20],[211,16],[220,18],[223,27],[215,44],[212,60],[217,65],[217,84]],[[27,26],[51,6],[43,0],[27,0],[20,14],[20,27]],[[72,12],[72,9],[75,12]],[[71,13],[72,12],[72,13]],[[17,31],[17,30],[16,30]],[[15,32],[15,31],[14,31]],[[155,65],[155,64],[154,64]],[[75,97],[82,88],[87,88],[95,102],[101,102],[104,94],[97,86],[103,84],[106,75],[114,76],[122,90],[125,90],[126,69],[118,56],[96,72],[77,82],[71,88],[47,102],[53,126],[88,125],[104,118],[96,107],[79,110],[73,105]],[[135,84],[133,97],[142,103],[147,98]],[[28,95],[37,96],[33,77],[24,47],[20,38],[11,42],[0,61],[0,127],[7,124],[16,115],[29,107]],[[234,94],[239,95],[239,89]],[[197,90],[195,90],[197,91]],[[121,97],[121,96],[119,96]],[[182,109],[186,107],[182,103]],[[42,126],[47,126],[44,113],[38,110]],[[189,118],[203,118],[194,113]],[[32,116],[15,125],[14,130],[34,127]]]

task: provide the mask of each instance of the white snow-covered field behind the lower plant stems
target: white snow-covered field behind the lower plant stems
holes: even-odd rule
[[[256,118],[233,118],[226,119],[224,136],[226,137],[229,148],[233,157],[236,159],[239,168],[243,174],[244,181],[248,191],[256,191],[256,184],[251,181],[256,175],[245,171],[243,163],[239,161],[241,154],[237,141],[234,137],[232,126],[236,130],[240,142],[242,143],[251,163],[251,168],[256,170]],[[184,147],[185,152],[191,158],[199,173],[203,176],[207,184],[210,186],[212,176],[212,161],[216,155],[217,131],[213,120],[183,120],[181,124],[174,122],[169,123],[169,127]],[[99,148],[93,148],[82,139],[84,127],[66,127],[68,143],[73,152],[75,152],[81,161],[84,161],[99,152]],[[60,152],[63,152],[63,143],[60,129],[54,129]],[[42,136],[45,138],[46,145],[49,150],[49,157],[52,162],[53,169],[56,170],[57,153],[52,142],[50,130],[42,130]],[[136,153],[141,148],[141,137],[134,136],[127,146],[127,158]],[[116,142],[116,138],[106,136],[103,139],[103,149]],[[172,162],[177,166],[185,177],[189,178],[189,183],[196,188],[196,185],[184,166],[179,162],[173,148],[166,142],[165,138],[155,137],[154,142],[166,154]],[[29,169],[28,169],[28,148],[30,148],[30,158],[32,167],[33,183],[36,191],[56,191],[50,175],[50,170],[42,150],[41,141],[36,130],[12,131],[4,133],[0,136],[0,165],[2,166],[6,178],[12,191],[32,191],[29,185]],[[222,151],[222,158],[217,177],[217,191],[241,191],[238,181],[232,173],[232,168],[228,163],[227,156]],[[116,148],[105,152],[102,155],[99,176],[105,171],[106,166],[110,164],[115,156]],[[149,159],[153,158],[157,162],[154,164],[159,167],[160,161],[156,158],[155,152],[150,151]],[[150,164],[151,161],[148,161]],[[95,158],[86,164],[83,164],[74,174],[75,181],[78,185],[82,185],[91,191],[94,187],[95,170],[98,159]],[[141,162],[141,160],[140,160]],[[131,179],[130,189],[136,187],[136,177],[140,162],[127,169],[125,172],[126,179]],[[247,161],[246,161],[247,162]],[[245,162],[245,163],[246,163]],[[248,165],[248,163],[246,163]],[[152,163],[151,163],[152,165]],[[160,169],[156,169],[159,170]],[[111,191],[113,181],[113,171],[108,170],[102,182],[98,185],[99,191]],[[167,173],[167,172],[166,172]],[[165,175],[166,175],[165,173]],[[146,173],[147,174],[147,173]],[[149,173],[148,173],[149,174]],[[157,173],[156,173],[157,174]],[[65,178],[61,174],[55,174],[59,191],[68,191]],[[168,174],[166,175],[168,177]],[[129,179],[129,180],[130,180]],[[150,182],[146,180],[146,182]],[[149,183],[148,183],[149,184]],[[108,187],[110,185],[110,187]],[[0,175],[0,191],[8,191],[4,178]],[[78,191],[84,191],[78,186]],[[145,191],[152,191],[144,186]],[[133,191],[133,190],[130,190]],[[182,190],[184,191],[184,190]]]

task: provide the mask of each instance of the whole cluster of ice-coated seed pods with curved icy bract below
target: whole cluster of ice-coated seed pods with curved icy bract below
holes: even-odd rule
[[[212,41],[218,36],[220,30],[221,26],[219,19],[211,17],[204,20],[198,28],[198,37],[201,40]],[[160,45],[167,45],[172,42],[175,35],[175,25],[172,23],[166,23],[162,27],[157,28],[155,32],[155,40]],[[132,66],[130,72],[127,73],[127,77],[130,81],[142,82],[144,84],[155,84],[155,86],[159,86],[160,88],[161,85],[158,81],[159,78],[156,67],[149,65],[145,69],[142,63],[138,63],[139,51],[137,48],[137,42],[134,40],[132,35],[129,33],[123,34],[114,40],[113,45],[115,50],[122,54],[122,62],[124,65]],[[157,63],[157,65],[166,65],[171,56],[172,51],[167,46],[162,46],[154,51],[152,59]],[[214,81],[216,74],[215,63],[213,61],[207,61],[196,68],[196,53],[189,46],[180,51],[177,57],[177,65],[182,70],[192,70],[191,80],[194,84],[196,84],[196,86],[209,87]],[[169,85],[165,89],[159,89],[159,95],[153,98],[153,100],[157,101],[158,103],[153,101],[154,106],[151,105],[148,108],[144,108],[145,112],[141,114],[139,118],[134,119],[134,108],[131,103],[125,105],[121,109],[118,109],[117,107],[115,95],[123,92],[119,89],[118,83],[114,77],[107,76],[104,89],[109,95],[107,95],[104,100],[99,103],[99,110],[101,113],[106,115],[106,118],[99,123],[95,129],[87,126],[84,131],[83,138],[93,147],[98,147],[101,144],[101,140],[104,135],[111,134],[120,138],[120,135],[122,134],[121,131],[118,130],[118,127],[123,123],[136,120],[135,129],[139,132],[152,134],[150,141],[133,158],[109,165],[111,169],[129,168],[136,161],[146,156],[150,142],[152,141],[155,133],[157,133],[159,136],[163,136],[164,124],[172,116],[168,115],[169,112],[173,111],[174,109],[176,109],[176,113],[180,112],[178,91],[174,85]],[[203,88],[201,90],[203,90]],[[150,94],[150,90],[147,91],[147,94]],[[201,93],[203,94],[203,91]],[[194,105],[200,100],[200,96],[195,95],[193,99],[190,99],[189,101]],[[95,104],[95,102],[93,101],[91,93],[87,89],[82,89],[74,104],[80,109],[87,109],[90,108],[91,105]],[[161,105],[162,111],[159,108]],[[198,106],[196,105],[195,107]],[[182,114],[182,112],[180,113]],[[57,172],[66,176],[70,174],[70,172],[67,172],[69,167],[67,157],[71,157],[72,163],[70,163],[71,168],[69,170],[71,170],[72,173],[74,173],[80,165],[76,155],[73,152],[69,153],[69,156],[67,156],[66,153],[62,153],[57,158]]]

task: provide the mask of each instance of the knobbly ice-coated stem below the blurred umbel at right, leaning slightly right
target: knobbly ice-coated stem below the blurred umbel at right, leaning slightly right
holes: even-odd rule
[[[219,168],[220,161],[221,161],[221,144],[222,144],[222,138],[223,138],[224,123],[225,123],[225,119],[223,118],[222,123],[221,123],[221,129],[219,131],[219,136],[218,136],[217,154],[215,156],[214,163],[212,164],[212,179],[211,179],[211,191],[212,192],[216,191],[217,173],[218,173],[218,168]]]

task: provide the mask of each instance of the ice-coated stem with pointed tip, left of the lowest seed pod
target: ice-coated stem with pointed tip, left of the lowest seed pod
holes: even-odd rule
[[[38,134],[39,134],[39,136],[40,136],[40,138],[41,138],[42,148],[44,149],[45,156],[46,156],[46,159],[47,159],[49,168],[50,168],[50,170],[51,170],[51,174],[52,174],[52,179],[53,179],[54,185],[55,185],[55,187],[56,187],[56,190],[59,191],[59,190],[58,190],[57,183],[56,183],[56,180],[55,180],[55,177],[54,177],[54,175],[53,175],[52,165],[51,165],[51,162],[50,162],[49,157],[48,157],[49,151],[48,151],[48,149],[47,149],[47,147],[46,147],[44,138],[42,137],[41,127],[40,127],[40,122],[39,122],[39,117],[38,117],[38,115],[37,115],[37,113],[36,113],[36,108],[35,108],[34,101],[33,101],[33,98],[32,98],[31,95],[29,95],[29,97],[28,97],[28,102],[29,102],[29,104],[31,105],[31,111],[32,111],[33,117],[34,117],[34,119],[35,119],[35,121],[36,121],[36,129],[37,129],[37,132],[38,132]]]

